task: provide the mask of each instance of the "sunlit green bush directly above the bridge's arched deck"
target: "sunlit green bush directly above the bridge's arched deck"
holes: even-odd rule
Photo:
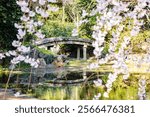
[[[46,37],[70,37],[73,27],[72,23],[48,20],[42,28],[42,31]]]

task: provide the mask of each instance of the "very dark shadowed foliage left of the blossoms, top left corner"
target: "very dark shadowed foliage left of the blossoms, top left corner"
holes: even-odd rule
[[[14,23],[19,20],[21,12],[15,0],[0,0],[0,50],[12,48],[17,30]]]

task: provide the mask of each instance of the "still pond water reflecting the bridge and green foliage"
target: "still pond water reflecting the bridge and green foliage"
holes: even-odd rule
[[[0,75],[0,88],[5,87],[7,78],[8,74]],[[102,80],[102,85],[99,87],[96,87],[93,82],[97,79]],[[35,98],[44,100],[92,100],[98,93],[102,94],[98,98],[100,100],[150,99],[149,75],[130,74],[127,80],[119,76],[112,85],[109,98],[105,98],[103,93],[106,91],[107,79],[108,73],[87,71],[44,73],[42,75],[33,73],[31,77],[29,73],[22,73],[12,74],[9,88],[20,90],[22,93],[30,93]],[[31,84],[30,92],[28,91],[29,84]]]

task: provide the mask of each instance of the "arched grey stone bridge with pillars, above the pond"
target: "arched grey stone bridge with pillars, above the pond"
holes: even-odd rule
[[[87,47],[92,46],[92,40],[75,37],[54,37],[36,41],[41,48],[57,47],[59,44],[75,44],[83,46],[83,59],[87,59]],[[77,48],[77,59],[80,59],[80,48]]]

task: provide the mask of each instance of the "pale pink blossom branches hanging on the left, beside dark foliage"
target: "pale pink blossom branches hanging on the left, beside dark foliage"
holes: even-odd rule
[[[42,34],[40,27],[43,26],[45,18],[49,17],[50,11],[57,11],[58,8],[49,4],[57,2],[56,0],[19,0],[16,1],[19,5],[23,15],[20,17],[21,22],[15,23],[14,26],[18,29],[17,39],[12,42],[12,46],[16,50],[8,51],[6,53],[0,53],[0,59],[6,56],[13,56],[11,64],[16,65],[21,61],[30,64],[32,67],[37,68],[39,60],[34,57],[29,57],[28,54],[31,51],[30,47],[24,45],[27,34],[35,37],[32,39],[33,45],[35,39],[44,39],[45,35]],[[35,5],[36,4],[36,5]],[[31,7],[32,6],[32,7]],[[38,18],[41,17],[41,18]]]

